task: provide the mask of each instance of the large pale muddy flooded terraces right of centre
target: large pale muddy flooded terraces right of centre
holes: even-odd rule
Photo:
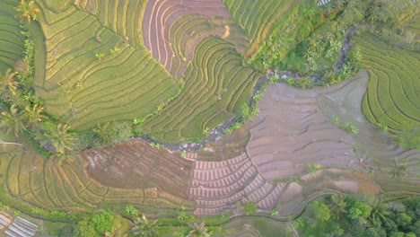
[[[420,172],[420,152],[399,147],[364,119],[361,104],[368,77],[361,71],[352,81],[311,90],[285,83],[267,87],[258,117],[246,124],[249,157],[258,171],[278,180],[302,174],[307,163],[384,170],[397,157],[408,160],[410,172]],[[333,116],[342,124],[353,123],[359,133],[352,136],[332,124]]]

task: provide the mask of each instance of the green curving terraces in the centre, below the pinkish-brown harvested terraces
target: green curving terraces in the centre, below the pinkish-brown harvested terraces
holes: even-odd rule
[[[203,137],[205,127],[215,127],[249,100],[260,73],[241,66],[234,46],[208,37],[196,48],[184,75],[185,89],[158,116],[144,123],[154,139],[179,143]]]

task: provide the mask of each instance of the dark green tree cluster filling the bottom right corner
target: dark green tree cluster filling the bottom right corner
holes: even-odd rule
[[[293,221],[302,236],[420,235],[420,198],[384,202],[370,195],[332,195],[314,201]]]

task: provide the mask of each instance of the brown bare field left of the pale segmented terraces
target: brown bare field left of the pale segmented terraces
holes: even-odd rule
[[[81,154],[86,171],[102,185],[118,189],[156,188],[173,196],[188,198],[188,180],[193,162],[163,149],[136,141]]]

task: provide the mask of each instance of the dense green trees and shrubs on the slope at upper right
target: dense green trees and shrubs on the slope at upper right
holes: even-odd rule
[[[411,0],[337,0],[323,6],[302,1],[274,26],[258,52],[254,66],[316,75],[317,83],[337,83],[360,69],[362,54],[351,36],[372,31],[386,37],[403,36],[418,13]],[[298,85],[296,83],[296,85]]]

